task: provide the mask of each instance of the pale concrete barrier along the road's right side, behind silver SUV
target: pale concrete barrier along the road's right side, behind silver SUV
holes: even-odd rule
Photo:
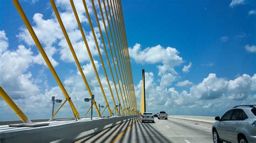
[[[173,115],[173,116],[169,116],[169,117],[170,118],[176,118],[176,119],[203,121],[205,123],[214,123],[214,121],[215,121],[215,117],[206,117],[206,116],[178,116],[178,115]]]

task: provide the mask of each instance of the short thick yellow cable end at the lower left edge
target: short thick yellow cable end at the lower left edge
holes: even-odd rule
[[[18,108],[15,102],[12,101],[11,97],[8,94],[6,94],[6,92],[2,87],[0,87],[0,96],[10,106],[10,108],[16,113],[16,115],[23,121],[23,123],[32,123],[31,120],[28,117],[26,117],[26,115],[22,112],[22,110]]]

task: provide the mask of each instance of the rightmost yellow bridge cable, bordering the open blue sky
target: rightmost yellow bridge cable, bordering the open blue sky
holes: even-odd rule
[[[136,99],[136,92],[134,89],[134,83],[133,83],[133,77],[132,77],[132,70],[131,70],[131,61],[130,61],[130,55],[129,55],[129,48],[128,48],[128,43],[127,43],[127,38],[126,38],[126,32],[125,32],[125,25],[124,25],[124,16],[123,16],[123,11],[122,11],[122,4],[121,1],[119,1],[119,12],[120,12],[120,18],[121,18],[121,22],[122,22],[122,29],[123,29],[123,33],[125,36],[125,42],[126,42],[126,54],[127,54],[127,59],[129,62],[129,69],[130,69],[130,76],[131,76],[131,81],[132,81],[132,88],[133,88],[133,92],[134,92],[134,100],[136,103],[136,109],[138,109],[137,107],[137,99]]]

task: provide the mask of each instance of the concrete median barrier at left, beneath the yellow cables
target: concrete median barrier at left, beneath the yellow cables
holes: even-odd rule
[[[97,120],[78,120],[61,125],[32,127],[24,130],[0,133],[0,142],[73,142],[106,128],[136,118],[120,116]]]

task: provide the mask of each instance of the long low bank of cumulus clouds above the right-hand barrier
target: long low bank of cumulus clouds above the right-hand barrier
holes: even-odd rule
[[[189,91],[177,91],[173,87],[161,88],[161,85],[155,82],[152,73],[146,73],[145,76],[149,79],[146,85],[147,110],[153,112],[166,109],[170,114],[190,115],[191,111],[199,111],[198,115],[208,115],[210,112],[220,113],[234,105],[255,102],[256,74],[253,76],[244,74],[234,80],[227,80],[211,73],[200,83],[194,84]],[[136,87],[137,93],[141,90],[140,83]],[[189,81],[180,82],[183,83]],[[140,100],[140,96],[137,96],[137,100]],[[221,110],[214,110],[217,106]],[[180,110],[187,108],[190,110]],[[207,110],[209,108],[213,110]]]

